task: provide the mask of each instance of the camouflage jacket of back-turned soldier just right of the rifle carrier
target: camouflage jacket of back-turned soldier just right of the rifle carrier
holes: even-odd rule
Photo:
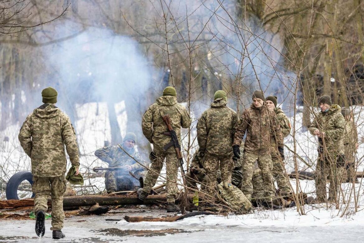
[[[205,110],[197,122],[197,141],[200,149],[211,156],[233,153],[233,138],[239,125],[237,113],[217,99]]]

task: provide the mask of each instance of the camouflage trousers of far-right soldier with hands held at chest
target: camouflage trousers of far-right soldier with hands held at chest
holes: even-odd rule
[[[329,200],[334,201],[339,196],[339,188],[343,178],[344,167],[338,166],[336,156],[332,159],[318,157],[315,171],[316,196],[319,201],[326,201],[326,183],[330,181]]]

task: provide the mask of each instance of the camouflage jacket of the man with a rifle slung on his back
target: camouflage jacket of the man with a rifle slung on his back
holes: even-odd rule
[[[144,113],[142,118],[142,130],[147,140],[162,149],[163,146],[171,141],[171,137],[164,135],[168,132],[167,125],[162,119],[162,114],[169,114],[171,126],[181,141],[181,127],[189,128],[191,125],[191,118],[187,113],[185,107],[177,102],[174,96],[161,96],[157,101],[151,105]]]

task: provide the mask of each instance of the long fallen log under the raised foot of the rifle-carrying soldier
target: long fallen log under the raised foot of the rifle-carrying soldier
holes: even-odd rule
[[[191,200],[193,195],[188,195],[187,199]],[[179,203],[180,199],[176,200]],[[63,207],[84,207],[92,206],[98,203],[100,206],[107,205],[153,205],[165,203],[167,201],[166,195],[149,195],[147,199],[142,202],[138,199],[137,195],[86,195],[86,196],[70,196],[63,197]],[[33,206],[34,201],[32,198],[20,200],[1,200],[0,209],[13,209],[20,207]],[[51,200],[48,199],[48,205],[51,206]]]

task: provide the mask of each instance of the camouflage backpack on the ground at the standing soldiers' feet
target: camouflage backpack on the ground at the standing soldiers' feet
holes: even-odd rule
[[[236,211],[249,212],[252,203],[244,193],[230,183],[220,183],[218,187],[218,198]]]

